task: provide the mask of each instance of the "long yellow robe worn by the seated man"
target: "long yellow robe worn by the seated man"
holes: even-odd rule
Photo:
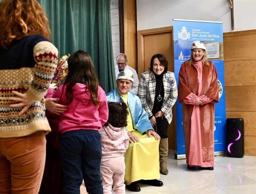
[[[142,135],[132,120],[128,105],[128,95],[120,94],[123,101],[128,106],[128,126],[126,129],[136,135],[140,142],[129,143],[129,147],[124,154],[125,157],[125,184],[131,184],[141,179],[152,180],[160,178],[159,172],[159,140],[155,137]]]

